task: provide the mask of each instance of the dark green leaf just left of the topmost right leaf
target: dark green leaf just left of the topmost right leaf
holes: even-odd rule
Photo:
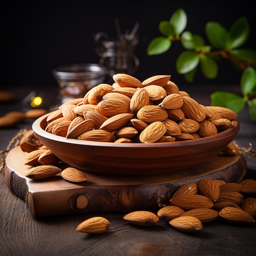
[[[210,44],[216,49],[225,49],[228,31],[218,22],[207,22],[205,33]]]

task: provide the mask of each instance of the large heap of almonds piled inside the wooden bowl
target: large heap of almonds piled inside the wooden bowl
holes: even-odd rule
[[[156,75],[141,82],[114,74],[112,85],[101,83],[50,112],[45,130],[67,139],[154,143],[207,137],[231,127],[235,112],[203,106],[170,78]]]

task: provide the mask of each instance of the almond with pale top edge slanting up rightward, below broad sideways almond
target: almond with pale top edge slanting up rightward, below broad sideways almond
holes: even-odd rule
[[[114,115],[113,117],[108,118],[101,126],[100,129],[108,130],[110,132],[115,132],[128,124],[130,124],[130,120],[133,118],[133,114],[131,113],[121,113]]]

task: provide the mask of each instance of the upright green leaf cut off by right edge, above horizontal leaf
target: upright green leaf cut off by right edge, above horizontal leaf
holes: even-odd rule
[[[240,81],[240,89],[243,95],[246,96],[249,92],[252,92],[256,86],[256,70],[252,67],[247,67],[243,72]]]

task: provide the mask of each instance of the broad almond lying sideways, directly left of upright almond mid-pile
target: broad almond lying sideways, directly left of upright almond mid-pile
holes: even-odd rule
[[[105,117],[113,117],[121,113],[129,113],[130,106],[121,99],[104,99],[100,101],[95,111]]]

